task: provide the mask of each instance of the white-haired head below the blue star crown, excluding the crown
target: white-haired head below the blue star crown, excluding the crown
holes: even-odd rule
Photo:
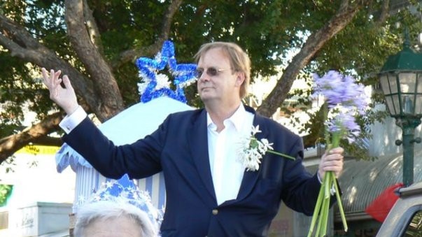
[[[86,203],[76,213],[76,237],[153,237],[157,227],[143,210],[123,199]]]

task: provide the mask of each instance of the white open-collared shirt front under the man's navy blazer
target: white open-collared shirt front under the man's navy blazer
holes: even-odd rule
[[[239,160],[241,138],[251,134],[253,113],[245,110],[243,104],[232,117],[224,120],[224,129],[218,133],[216,124],[206,113],[208,130],[208,154],[217,204],[237,198],[245,167]]]

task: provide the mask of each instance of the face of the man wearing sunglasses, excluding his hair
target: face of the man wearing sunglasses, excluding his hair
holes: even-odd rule
[[[239,101],[243,79],[230,68],[230,61],[220,48],[213,48],[199,58],[197,69],[202,71],[197,82],[198,94],[204,103]]]

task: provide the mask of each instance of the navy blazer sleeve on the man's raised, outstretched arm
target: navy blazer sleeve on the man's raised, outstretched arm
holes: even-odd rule
[[[116,146],[86,117],[62,139],[107,178],[118,179],[125,173],[130,178],[145,178],[162,170],[160,152],[168,120],[169,117],[153,134],[132,144]]]

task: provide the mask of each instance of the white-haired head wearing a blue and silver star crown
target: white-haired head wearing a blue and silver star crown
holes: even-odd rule
[[[108,180],[97,192],[76,205],[76,237],[158,236],[162,215],[148,192],[125,174]]]

